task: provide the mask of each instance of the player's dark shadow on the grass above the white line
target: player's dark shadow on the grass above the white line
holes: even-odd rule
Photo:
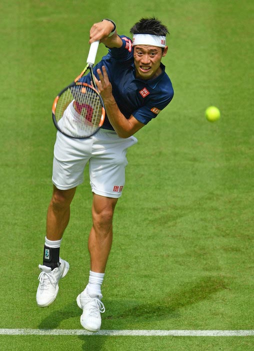
[[[182,289],[170,292],[164,299],[153,302],[137,304],[136,301],[107,301],[104,299],[107,313],[103,320],[117,320],[119,318],[142,318],[142,320],[160,318],[179,318],[180,309],[186,306],[209,299],[216,292],[226,289],[225,282],[221,277],[203,277],[198,281],[189,282]],[[111,313],[110,313],[111,312]],[[81,314],[76,302],[73,301],[63,309],[53,311],[38,325],[40,329],[57,328],[62,320],[77,317]]]

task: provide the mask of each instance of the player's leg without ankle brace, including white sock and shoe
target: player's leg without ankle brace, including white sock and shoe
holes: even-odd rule
[[[77,296],[77,305],[83,310],[81,325],[89,331],[98,331],[105,308],[101,302],[100,286],[112,245],[112,219],[117,199],[93,194],[92,228],[88,239],[90,253],[89,283]]]

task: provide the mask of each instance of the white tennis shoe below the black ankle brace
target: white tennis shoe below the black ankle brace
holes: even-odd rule
[[[36,302],[39,307],[46,307],[52,303],[58,293],[58,282],[60,278],[63,278],[68,270],[68,262],[59,258],[59,267],[51,270],[50,267],[42,266],[39,264],[39,269],[41,270],[38,280],[39,286],[36,293]]]

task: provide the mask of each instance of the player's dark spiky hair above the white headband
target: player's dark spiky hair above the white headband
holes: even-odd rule
[[[166,36],[169,34],[166,26],[156,19],[155,17],[141,18],[133,27],[130,28],[131,34],[151,34]]]

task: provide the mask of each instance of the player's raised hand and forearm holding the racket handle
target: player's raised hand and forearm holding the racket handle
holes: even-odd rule
[[[122,41],[115,30],[115,24],[106,19],[94,23],[90,29],[89,44],[96,40],[99,40],[108,48],[120,48],[122,46]]]

